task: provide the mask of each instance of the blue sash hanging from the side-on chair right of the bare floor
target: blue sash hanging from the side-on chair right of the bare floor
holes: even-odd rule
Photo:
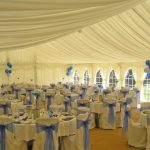
[[[131,118],[131,112],[125,110],[124,120],[123,120],[123,128],[122,131],[126,132],[128,130],[128,119]]]

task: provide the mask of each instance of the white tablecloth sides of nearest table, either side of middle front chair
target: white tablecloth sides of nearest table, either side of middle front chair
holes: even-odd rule
[[[68,121],[60,121],[58,126],[58,136],[69,136],[76,134],[76,118]],[[14,136],[17,140],[31,141],[36,137],[35,123],[14,123]]]

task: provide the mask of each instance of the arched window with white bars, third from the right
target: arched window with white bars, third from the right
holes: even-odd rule
[[[112,70],[109,75],[109,87],[116,87],[117,83],[118,83],[118,80],[116,78],[115,71]]]

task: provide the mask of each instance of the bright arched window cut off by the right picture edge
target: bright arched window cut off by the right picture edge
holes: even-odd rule
[[[143,99],[150,101],[150,78],[147,75],[143,81]]]

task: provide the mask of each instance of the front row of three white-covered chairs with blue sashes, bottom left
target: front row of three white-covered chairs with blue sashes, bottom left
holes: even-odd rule
[[[58,141],[57,118],[39,118],[36,120],[37,134],[33,142],[33,150],[89,150],[89,114],[77,116],[77,132],[75,135],[61,137]],[[0,149],[27,150],[25,141],[17,141],[13,135],[12,119],[0,117]]]

